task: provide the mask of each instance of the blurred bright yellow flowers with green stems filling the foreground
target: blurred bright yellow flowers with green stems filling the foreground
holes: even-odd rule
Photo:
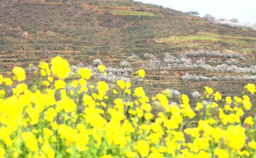
[[[205,87],[208,105],[190,105],[183,94],[180,105],[170,106],[167,91],[150,99],[129,81],[96,81],[85,68],[70,74],[61,57],[39,67],[42,82],[18,83],[12,94],[6,91],[12,79],[0,75],[0,158],[256,157],[256,120],[244,113],[254,111],[246,95],[256,92],[254,84],[235,97]],[[107,73],[104,65],[98,71]],[[21,67],[13,73],[26,79]],[[135,74],[143,78],[145,71]],[[163,110],[153,113],[153,102]]]

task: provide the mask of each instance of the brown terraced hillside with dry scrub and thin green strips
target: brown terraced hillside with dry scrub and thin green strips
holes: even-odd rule
[[[256,32],[220,27],[196,16],[131,0],[0,1],[1,73],[10,71],[14,65],[28,67],[29,63],[36,65],[40,59],[50,61],[60,55],[73,65],[88,65],[99,58],[105,65],[111,63],[112,67],[120,67],[121,61],[127,61],[134,71],[144,68],[143,84],[154,94],[167,88],[182,93],[190,89],[200,91],[208,85],[232,95],[245,83],[255,83],[248,78],[227,81],[220,77],[185,81],[182,76],[187,73],[205,77],[255,75],[254,71],[237,73],[227,69],[205,69],[196,61],[205,57],[205,65],[217,67],[233,57],[186,56],[191,49],[235,51],[244,57],[234,58],[235,65],[251,67],[256,65]],[[164,62],[166,52],[173,61]],[[146,58],[146,53],[154,57]],[[134,58],[129,59],[132,55]],[[179,63],[178,59],[184,55],[190,63]],[[163,62],[161,73],[149,66],[153,58]],[[175,62],[183,65],[174,66]],[[199,66],[193,67],[193,64]],[[178,67],[184,65],[191,67]]]

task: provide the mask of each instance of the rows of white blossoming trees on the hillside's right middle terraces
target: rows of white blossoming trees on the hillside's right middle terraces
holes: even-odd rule
[[[167,71],[200,71],[202,73],[224,72],[236,75],[184,75],[184,81],[256,81],[256,65],[240,67],[238,64],[244,63],[244,55],[236,52],[190,50],[178,56],[165,53],[164,58],[156,58],[152,54],[145,53],[148,65],[147,69],[156,70],[158,76]],[[239,75],[241,74],[241,75]],[[158,78],[159,79],[159,78]]]

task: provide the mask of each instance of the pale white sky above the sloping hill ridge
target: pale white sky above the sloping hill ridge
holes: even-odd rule
[[[241,23],[256,24],[256,0],[135,0],[162,5],[188,12],[197,10],[200,16],[210,14],[215,18],[236,18]]]

